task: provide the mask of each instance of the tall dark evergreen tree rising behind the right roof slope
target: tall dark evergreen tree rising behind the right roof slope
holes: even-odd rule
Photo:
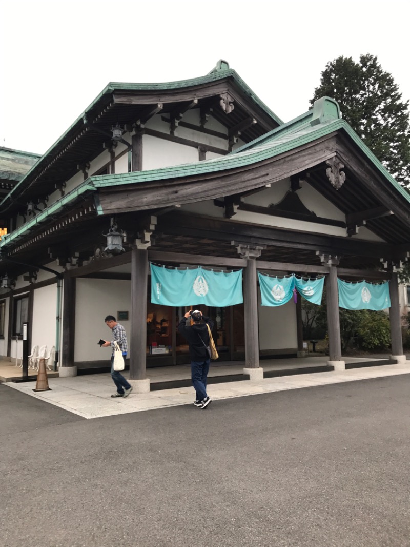
[[[315,100],[335,99],[343,118],[353,127],[397,182],[410,184],[409,101],[401,100],[392,75],[383,71],[377,57],[366,54],[329,61],[321,73]]]

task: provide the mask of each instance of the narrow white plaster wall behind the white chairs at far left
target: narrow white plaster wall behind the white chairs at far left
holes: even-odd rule
[[[34,289],[32,345],[56,345],[57,283]],[[28,348],[30,351],[31,348]]]

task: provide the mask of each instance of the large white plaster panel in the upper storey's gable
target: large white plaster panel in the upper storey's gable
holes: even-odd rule
[[[160,138],[143,136],[143,169],[158,169],[198,161],[196,148]],[[116,171],[115,171],[116,172]]]

